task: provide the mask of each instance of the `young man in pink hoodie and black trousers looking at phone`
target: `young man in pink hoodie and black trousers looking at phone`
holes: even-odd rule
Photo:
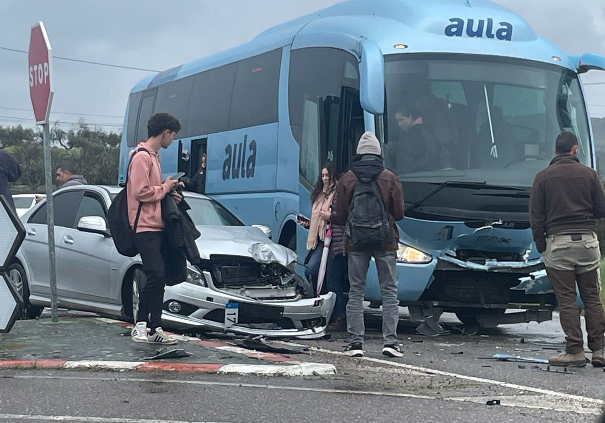
[[[177,202],[182,197],[173,191],[178,180],[168,177],[162,182],[162,165],[158,152],[161,148],[167,148],[172,144],[174,136],[180,129],[181,124],[174,116],[168,113],[153,115],[147,123],[148,140],[137,146],[137,149],[143,148],[147,152],[133,152],[135,155],[128,170],[126,192],[128,218],[132,228],[134,228],[139,203],[142,204],[135,242],[146,277],[145,285],[140,287],[139,314],[135,316],[136,325],[131,332],[132,340],[136,342],[166,345],[177,343],[177,340],[169,337],[162,330],[166,250],[160,201],[169,193],[177,199]],[[151,329],[149,335],[148,323]]]

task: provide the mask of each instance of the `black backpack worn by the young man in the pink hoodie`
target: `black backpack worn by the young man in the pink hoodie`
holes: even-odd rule
[[[128,171],[130,170],[130,164],[134,155],[140,151],[148,150],[144,148],[137,149],[128,162],[126,167],[126,182],[122,190],[117,193],[116,198],[111,202],[110,208],[107,211],[107,225],[111,232],[114,245],[116,245],[117,252],[126,257],[134,257],[139,254],[137,251],[136,244],[134,242],[134,234],[137,231],[137,225],[139,224],[139,216],[141,215],[141,207],[143,203],[139,202],[139,210],[137,210],[137,218],[134,219],[134,228],[130,227],[128,219],[128,198],[126,196],[126,189],[128,186]]]

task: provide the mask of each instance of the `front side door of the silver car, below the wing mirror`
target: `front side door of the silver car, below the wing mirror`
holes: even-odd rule
[[[77,229],[81,218],[98,216],[107,222],[105,201],[99,193],[85,190],[76,204],[74,224],[65,228],[57,245],[57,275],[60,285],[76,303],[109,301],[111,237]]]

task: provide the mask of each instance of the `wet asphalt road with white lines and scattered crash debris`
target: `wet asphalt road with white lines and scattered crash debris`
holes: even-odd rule
[[[0,422],[596,422],[605,373],[485,360],[496,353],[548,358],[563,334],[554,321],[450,335],[399,325],[404,358],[381,356],[380,321],[368,318],[367,357],[341,354],[347,335],[309,341],[300,361],[335,364],[334,376],[266,378],[188,373],[0,372]],[[301,341],[299,341],[301,342]],[[538,366],[539,369],[532,367]],[[499,405],[487,405],[500,401]]]

